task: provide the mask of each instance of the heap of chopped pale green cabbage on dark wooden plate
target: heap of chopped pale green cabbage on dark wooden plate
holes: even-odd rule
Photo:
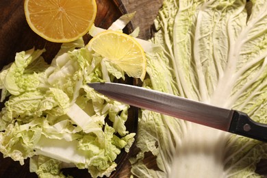
[[[51,64],[44,51],[21,51],[0,73],[1,153],[21,164],[30,157],[30,170],[39,177],[65,177],[60,169],[68,166],[110,176],[136,133],[125,126],[129,105],[87,84],[115,77],[82,38],[62,44]]]

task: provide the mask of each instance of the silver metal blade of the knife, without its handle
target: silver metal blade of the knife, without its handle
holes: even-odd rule
[[[91,83],[88,85],[116,101],[229,131],[233,110],[214,107],[138,86],[115,83]]]

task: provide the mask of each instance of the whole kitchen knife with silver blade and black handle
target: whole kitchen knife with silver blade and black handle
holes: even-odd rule
[[[88,86],[116,101],[267,142],[267,125],[253,121],[244,112],[138,86],[109,82],[90,83]]]

